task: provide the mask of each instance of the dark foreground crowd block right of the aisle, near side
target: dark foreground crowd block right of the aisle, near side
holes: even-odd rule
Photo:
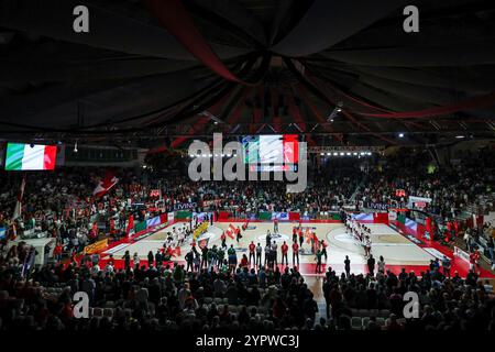
[[[474,271],[465,278],[459,273],[450,277],[431,266],[420,275],[403,268],[398,275],[385,270],[374,277],[339,276],[329,270],[323,283],[329,315],[341,329],[494,331],[493,286]],[[408,305],[415,299],[411,293],[418,298],[416,315],[413,304]],[[385,319],[378,311],[385,311]],[[364,319],[356,324],[363,312]]]

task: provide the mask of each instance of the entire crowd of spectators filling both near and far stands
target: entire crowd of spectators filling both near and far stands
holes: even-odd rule
[[[118,170],[118,185],[102,198],[92,189],[103,170],[76,168],[56,173],[33,173],[26,177],[21,216],[11,221],[21,177],[0,177],[0,228],[7,237],[15,232],[46,232],[58,245],[80,250],[101,233],[109,234],[113,219],[119,237],[129,216],[138,220],[154,212],[174,210],[177,204],[196,204],[197,210],[230,211],[243,218],[260,211],[300,211],[316,217],[340,209],[349,202],[358,208],[367,200],[392,204],[406,201],[396,195],[429,197],[426,209],[441,217],[458,216],[469,205],[493,191],[490,161],[462,160],[452,168],[429,173],[418,170],[421,158],[372,160],[341,167],[319,165],[308,189],[288,195],[282,183],[191,183],[184,175]],[[486,166],[481,167],[481,166]],[[152,189],[160,189],[160,201]],[[157,202],[158,201],[158,202]],[[146,205],[135,208],[134,205]],[[154,209],[150,210],[150,204]],[[484,204],[493,207],[493,204]],[[147,209],[146,209],[147,208]],[[95,223],[102,223],[95,229]],[[466,278],[444,277],[436,270],[421,277],[403,272],[376,276],[338,276],[331,270],[323,283],[329,304],[327,317],[320,316],[314,293],[296,268],[285,272],[238,268],[234,274],[216,271],[187,273],[182,265],[100,270],[58,261],[24,273],[29,246],[20,243],[0,251],[0,329],[46,330],[218,330],[218,329],[352,329],[356,309],[388,310],[381,326],[371,316],[364,329],[482,329],[494,330],[493,295],[474,273]],[[67,258],[66,258],[67,261]],[[85,292],[94,314],[76,319],[73,295]],[[416,292],[420,318],[403,318],[406,292]],[[102,308],[98,310],[97,308]],[[320,319],[317,319],[320,317]]]

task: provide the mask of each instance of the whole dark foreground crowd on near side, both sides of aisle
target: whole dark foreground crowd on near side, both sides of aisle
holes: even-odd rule
[[[30,280],[19,274],[15,266],[0,271],[0,330],[495,329],[492,287],[473,272],[466,278],[446,277],[436,268],[420,277],[405,271],[339,276],[329,268],[322,280],[327,314],[304,277],[288,267],[230,274],[185,272],[177,264],[116,271],[109,264],[94,272],[72,263],[40,268]],[[87,318],[75,317],[76,292],[89,297]],[[417,316],[405,310],[404,296],[410,292],[419,298]]]

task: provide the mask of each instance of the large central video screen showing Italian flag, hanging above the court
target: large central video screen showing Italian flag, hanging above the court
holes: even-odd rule
[[[242,139],[246,164],[296,164],[299,156],[297,134],[246,135]]]

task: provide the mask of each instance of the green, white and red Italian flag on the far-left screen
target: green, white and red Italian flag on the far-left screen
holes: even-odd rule
[[[56,156],[56,145],[9,143],[6,170],[54,169]]]

